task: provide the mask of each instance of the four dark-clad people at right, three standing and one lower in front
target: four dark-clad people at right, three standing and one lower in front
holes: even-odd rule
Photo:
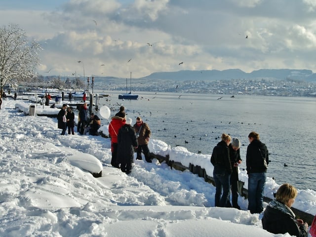
[[[260,141],[258,133],[248,135],[249,145],[246,152],[246,170],[248,174],[248,210],[261,213],[269,164],[269,151]],[[214,166],[215,206],[240,209],[238,200],[238,165],[240,158],[240,141],[223,133],[221,141],[214,147],[211,163]],[[230,202],[232,191],[232,203]],[[290,184],[283,184],[276,192],[276,199],[271,201],[263,213],[263,229],[274,234],[289,233],[291,236],[307,237],[308,224],[295,219],[290,209],[297,196],[297,190]]]

